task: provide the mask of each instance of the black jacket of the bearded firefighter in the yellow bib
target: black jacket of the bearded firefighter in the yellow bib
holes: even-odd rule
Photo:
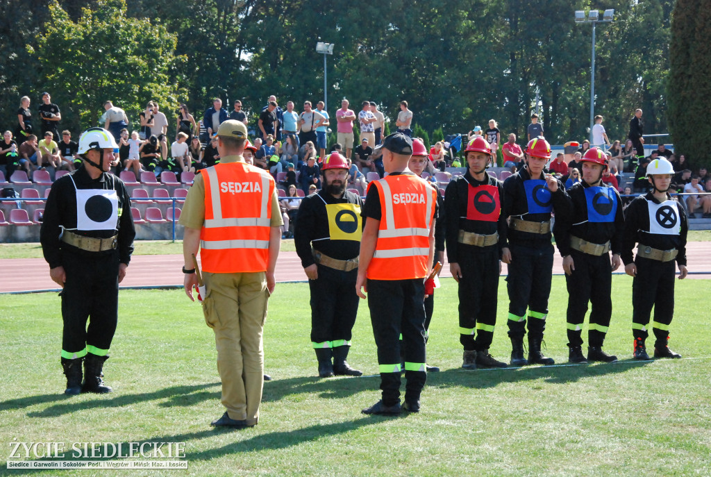
[[[315,263],[311,253],[312,244],[315,250],[338,260],[353,259],[358,257],[360,252],[360,240],[331,240],[329,228],[329,223],[333,227],[339,227],[338,224],[341,224],[340,226],[345,229],[341,232],[348,232],[349,227],[354,226],[352,221],[355,220],[357,223],[360,219],[360,212],[355,213],[357,217],[346,213],[347,216],[341,215],[337,220],[334,215],[334,220],[331,221],[328,218],[326,204],[355,204],[361,210],[363,209],[363,199],[360,198],[360,195],[348,191],[344,191],[341,198],[335,198],[324,188],[318,193],[301,199],[299,214],[296,215],[294,224],[294,245],[296,245],[296,254],[299,255],[304,268]],[[363,225],[361,225],[361,231],[362,227]],[[334,232],[340,233],[336,229]]]

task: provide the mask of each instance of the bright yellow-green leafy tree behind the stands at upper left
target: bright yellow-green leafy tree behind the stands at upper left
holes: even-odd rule
[[[149,100],[178,104],[176,36],[147,18],[128,18],[124,0],[99,0],[73,21],[56,2],[49,6],[46,30],[28,48],[41,65],[43,85],[63,106],[65,127],[97,124],[105,100],[129,119]]]

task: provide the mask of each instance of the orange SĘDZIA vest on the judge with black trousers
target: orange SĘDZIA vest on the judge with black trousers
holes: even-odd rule
[[[385,176],[368,184],[380,197],[380,227],[368,278],[405,280],[427,276],[429,229],[437,192],[414,174]]]

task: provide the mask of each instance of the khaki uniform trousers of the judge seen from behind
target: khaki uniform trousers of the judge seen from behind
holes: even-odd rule
[[[260,417],[264,385],[262,328],[267,319],[265,272],[203,272],[205,322],[215,332],[222,403],[228,416],[247,425]]]

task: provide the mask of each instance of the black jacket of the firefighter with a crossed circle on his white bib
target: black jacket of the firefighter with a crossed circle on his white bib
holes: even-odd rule
[[[672,200],[667,194],[668,200]],[[649,207],[647,200],[652,203],[660,202],[654,198],[650,192],[647,195],[639,195],[634,198],[624,213],[624,235],[622,237],[622,253],[620,258],[626,265],[634,262],[634,246],[637,243],[647,245],[658,250],[671,250],[675,248],[679,254],[676,262],[686,265],[686,235],[689,231],[689,223],[686,219],[686,211],[683,205],[677,201],[679,211],[680,230],[679,235],[664,235],[649,232]],[[676,200],[676,199],[673,199]]]

